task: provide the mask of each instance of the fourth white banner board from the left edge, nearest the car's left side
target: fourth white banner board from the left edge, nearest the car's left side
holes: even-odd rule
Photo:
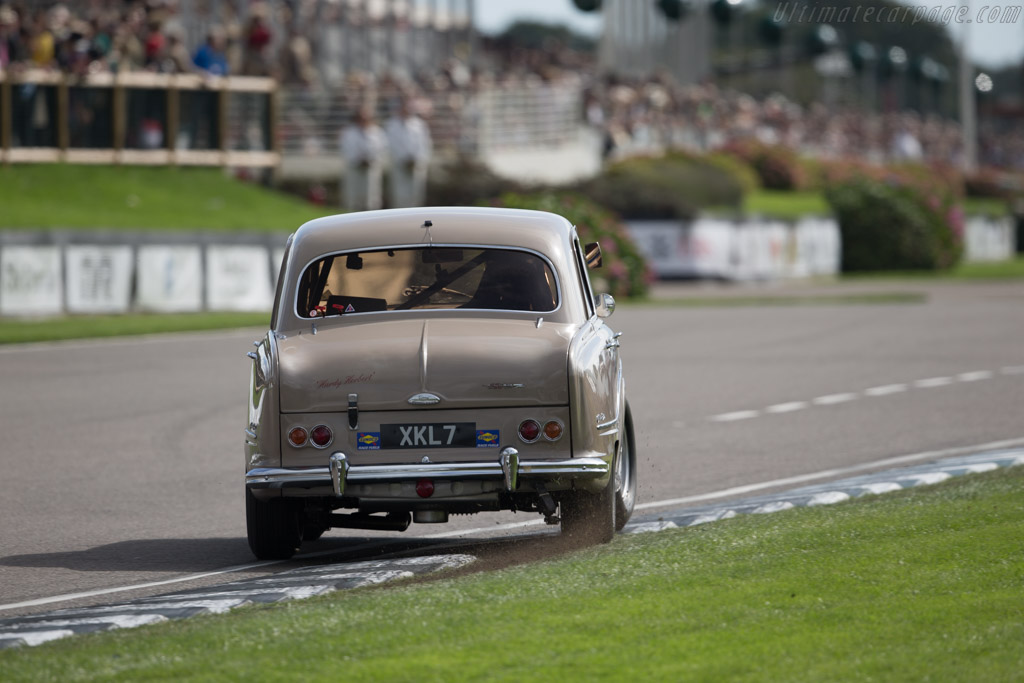
[[[207,309],[262,311],[272,303],[266,247],[207,247]]]

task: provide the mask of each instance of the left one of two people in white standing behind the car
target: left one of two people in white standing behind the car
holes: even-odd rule
[[[340,144],[345,162],[341,183],[343,208],[349,211],[380,209],[387,138],[371,110],[360,109],[356,113],[355,120],[341,131]]]

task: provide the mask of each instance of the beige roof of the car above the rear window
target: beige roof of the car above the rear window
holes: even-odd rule
[[[425,227],[429,221],[430,227]],[[514,246],[560,259],[574,228],[546,211],[495,207],[424,207],[326,216],[302,225],[292,260],[305,265],[339,251],[433,244]]]

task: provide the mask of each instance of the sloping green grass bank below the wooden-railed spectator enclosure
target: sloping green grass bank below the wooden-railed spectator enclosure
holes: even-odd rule
[[[0,166],[0,229],[294,230],[327,213],[219,169]]]

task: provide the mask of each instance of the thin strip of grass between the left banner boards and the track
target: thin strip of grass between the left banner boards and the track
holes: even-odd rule
[[[269,313],[70,315],[42,321],[0,318],[0,344],[262,327]]]

